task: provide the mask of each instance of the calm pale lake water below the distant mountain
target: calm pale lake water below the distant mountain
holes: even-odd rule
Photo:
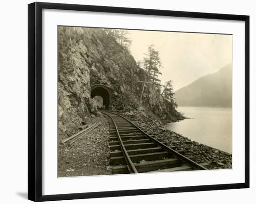
[[[185,119],[169,123],[166,129],[222,151],[232,153],[231,107],[178,107]]]

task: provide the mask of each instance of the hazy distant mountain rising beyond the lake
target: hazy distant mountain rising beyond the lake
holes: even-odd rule
[[[179,106],[232,106],[232,64],[175,92]]]

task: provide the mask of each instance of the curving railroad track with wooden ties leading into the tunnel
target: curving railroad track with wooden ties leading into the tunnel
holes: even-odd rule
[[[208,163],[197,164],[195,158],[168,147],[148,135],[127,118],[113,112],[108,116],[110,165],[113,174],[207,170]]]

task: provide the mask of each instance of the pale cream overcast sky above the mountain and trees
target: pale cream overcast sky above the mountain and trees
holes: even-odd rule
[[[161,83],[173,80],[175,91],[232,63],[232,35],[130,30],[135,60],[142,60],[148,45],[159,51]]]

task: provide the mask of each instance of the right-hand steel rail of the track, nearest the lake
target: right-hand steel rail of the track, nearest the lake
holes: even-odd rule
[[[108,112],[108,111],[106,111]],[[148,133],[144,132],[143,130],[141,130],[141,128],[139,128],[137,125],[135,125],[133,122],[131,122],[130,120],[128,120],[127,118],[114,113],[114,112],[109,112],[115,115],[120,116],[121,118],[124,118],[125,120],[127,120],[129,123],[131,123],[132,125],[134,125],[136,128],[138,128],[138,130],[140,132],[142,132],[143,134],[145,134],[149,139],[151,139],[153,142],[157,143],[159,146],[161,146],[163,149],[165,149],[166,151],[168,151],[169,153],[173,154],[175,157],[181,159],[183,162],[185,162],[186,164],[190,165],[191,167],[193,167],[195,170],[208,170],[207,168],[203,167],[202,165],[197,164],[196,162],[194,162],[193,160],[185,157],[184,155],[180,154],[179,152],[175,151],[174,149],[168,147],[167,145],[164,145],[162,142],[158,141],[157,139],[151,137],[150,135],[148,135]]]

